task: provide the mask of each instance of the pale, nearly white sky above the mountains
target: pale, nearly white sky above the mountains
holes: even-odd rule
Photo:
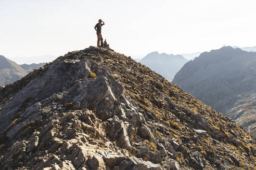
[[[60,56],[96,46],[98,19],[110,47],[133,58],[256,46],[255,7],[255,0],[0,0],[0,54]]]

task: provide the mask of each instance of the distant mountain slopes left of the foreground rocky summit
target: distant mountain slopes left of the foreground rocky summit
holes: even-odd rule
[[[0,55],[0,86],[14,82],[27,75],[31,70],[37,69],[45,64],[46,63],[18,65],[14,61]]]

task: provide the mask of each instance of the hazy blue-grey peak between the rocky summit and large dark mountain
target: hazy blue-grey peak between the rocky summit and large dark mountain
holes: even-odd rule
[[[172,81],[175,74],[187,62],[182,55],[151,52],[139,62]]]

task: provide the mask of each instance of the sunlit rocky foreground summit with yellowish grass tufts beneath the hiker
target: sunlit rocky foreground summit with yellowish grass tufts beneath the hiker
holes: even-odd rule
[[[251,136],[109,48],[0,88],[2,169],[255,169]]]

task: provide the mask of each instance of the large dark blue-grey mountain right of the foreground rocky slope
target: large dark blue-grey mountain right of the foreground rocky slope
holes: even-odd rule
[[[223,47],[187,62],[173,83],[256,137],[256,52]]]

